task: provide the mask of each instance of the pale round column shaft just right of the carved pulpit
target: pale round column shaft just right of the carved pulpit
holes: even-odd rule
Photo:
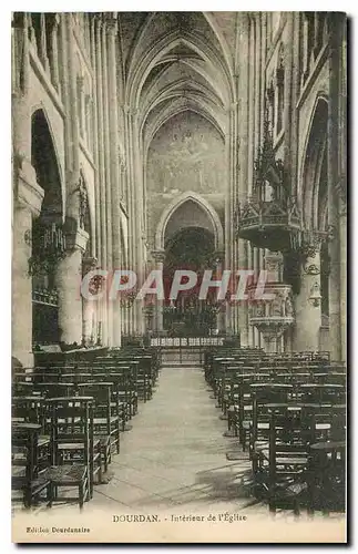
[[[294,350],[319,350],[321,326],[320,301],[310,296],[320,291],[320,245],[317,244],[301,267],[300,291],[296,298]],[[316,294],[317,294],[316,293]],[[320,294],[320,293],[319,293]]]

